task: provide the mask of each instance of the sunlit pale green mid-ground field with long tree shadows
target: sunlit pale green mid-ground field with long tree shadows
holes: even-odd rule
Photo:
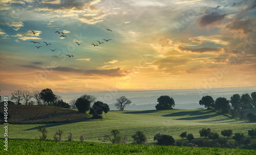
[[[42,124],[10,124],[9,138],[34,139],[41,134],[37,131],[37,126]],[[238,119],[232,119],[219,113],[209,110],[145,110],[145,111],[111,111],[103,114],[103,120],[71,122],[71,123],[51,123],[46,124],[48,129],[48,139],[53,139],[57,129],[64,131],[63,139],[67,140],[71,132],[74,140],[78,141],[79,136],[84,134],[85,141],[89,142],[109,142],[105,135],[112,129],[119,129],[123,135],[128,136],[128,141],[132,142],[131,136],[137,131],[144,131],[148,138],[148,143],[154,142],[154,135],[172,135],[174,139],[180,139],[179,135],[183,131],[194,134],[199,138],[199,130],[203,127],[210,127],[212,131],[220,134],[223,129],[232,129],[233,132],[243,132],[247,135],[247,130],[255,128],[256,123],[247,123]],[[1,127],[1,126],[0,126]],[[220,134],[221,135],[221,134]],[[0,138],[4,138],[0,135]]]

